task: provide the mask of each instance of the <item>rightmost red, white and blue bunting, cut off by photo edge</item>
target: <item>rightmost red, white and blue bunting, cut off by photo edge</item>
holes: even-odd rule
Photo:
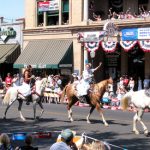
[[[150,52],[150,40],[138,41],[138,43],[144,52]]]

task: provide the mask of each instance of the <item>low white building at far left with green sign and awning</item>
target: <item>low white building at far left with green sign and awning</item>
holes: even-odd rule
[[[8,72],[13,75],[18,70],[13,64],[23,48],[24,19],[9,21],[0,17],[0,75],[4,79]]]

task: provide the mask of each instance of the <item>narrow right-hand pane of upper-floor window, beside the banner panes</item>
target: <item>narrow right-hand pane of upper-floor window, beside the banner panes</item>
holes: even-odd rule
[[[69,23],[69,0],[62,0],[62,24]]]

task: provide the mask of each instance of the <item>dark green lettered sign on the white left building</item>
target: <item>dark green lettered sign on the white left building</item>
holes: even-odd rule
[[[12,27],[8,27],[7,29],[0,28],[0,38],[2,41],[6,41],[7,38],[13,38],[16,36],[16,31]]]

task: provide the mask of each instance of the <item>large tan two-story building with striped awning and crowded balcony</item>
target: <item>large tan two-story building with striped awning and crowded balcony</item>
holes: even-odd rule
[[[138,44],[125,51],[119,42],[123,29],[149,28],[149,16],[112,20],[110,11],[138,15],[139,11],[146,10],[150,10],[149,0],[25,0],[23,52],[14,67],[23,68],[31,64],[34,68],[59,71],[61,74],[82,74],[85,63],[90,62],[96,67],[101,61],[102,68],[95,74],[97,81],[107,75],[117,78],[129,74],[144,78],[150,75],[150,53],[142,51]],[[101,20],[97,20],[98,15]],[[108,53],[99,45],[92,56],[93,53],[88,52],[85,46],[89,41],[79,41],[79,33],[90,32],[91,37],[91,32],[97,34],[103,31],[107,22],[113,23],[118,32],[103,35],[100,41],[117,42],[115,50]]]

